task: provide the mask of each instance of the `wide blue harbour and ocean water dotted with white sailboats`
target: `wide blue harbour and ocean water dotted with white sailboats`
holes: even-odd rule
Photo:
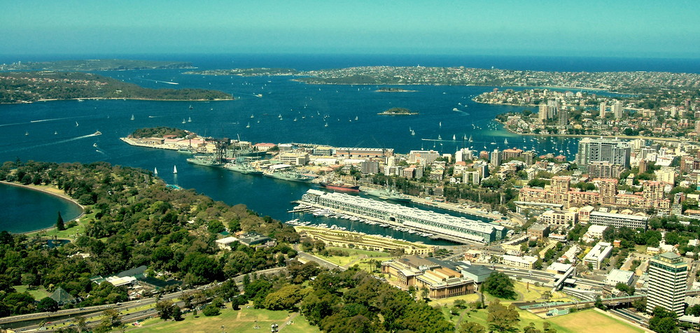
[[[76,55],[70,59],[90,59],[95,56]],[[618,70],[699,72],[696,62],[658,60],[620,62],[619,59],[553,59],[553,58],[487,58],[487,57],[405,57],[396,56],[300,56],[300,55],[159,55],[122,56],[130,59],[174,59],[191,61],[200,69],[229,69],[244,67],[291,67],[295,69],[326,69],[345,66],[473,66],[538,69],[556,71]],[[0,62],[17,60],[50,60],[51,57],[31,59],[0,57]],[[56,56],[55,59],[69,59]],[[597,61],[597,62],[596,62]],[[635,68],[629,68],[636,66]],[[111,76],[144,87],[198,87],[222,90],[233,94],[235,101],[45,101],[34,104],[0,105],[0,160],[40,160],[50,162],[95,162],[158,168],[167,183],[225,201],[246,204],[262,215],[279,220],[299,218],[286,213],[290,201],[313,185],[290,183],[272,178],[243,175],[224,169],[213,169],[186,162],[186,155],[174,151],[153,150],[128,146],[119,140],[142,127],[169,126],[187,129],[214,137],[236,138],[253,142],[319,143],[331,146],[394,148],[397,153],[409,150],[435,149],[454,153],[458,148],[472,146],[477,150],[506,147],[535,148],[538,153],[559,153],[573,158],[577,140],[540,138],[510,134],[493,118],[498,113],[522,111],[515,106],[477,104],[471,97],[493,87],[410,86],[416,92],[375,92],[375,85],[307,85],[290,80],[289,76],[197,76],[184,75],[185,70],[106,71]],[[171,81],[179,85],[157,83]],[[262,94],[263,97],[255,97]],[[193,106],[190,110],[189,106]],[[405,107],[419,115],[392,117],[377,115],[391,107]],[[453,111],[457,108],[458,111]],[[131,120],[132,115],[134,120]],[[251,118],[251,115],[253,118]],[[279,116],[281,115],[281,119]],[[328,115],[325,120],[324,115]],[[183,120],[192,119],[183,123]],[[356,120],[357,118],[357,120]],[[296,119],[296,121],[294,121]],[[328,127],[325,124],[328,123]],[[249,128],[246,128],[247,125]],[[413,129],[415,136],[410,135]],[[91,136],[99,130],[101,136]],[[442,141],[435,140],[440,136]],[[455,138],[452,141],[452,138]],[[464,137],[472,136],[468,143]],[[504,141],[507,139],[508,144]],[[493,144],[491,144],[493,143]],[[97,147],[94,147],[97,144]],[[568,152],[567,152],[568,151]],[[173,166],[179,173],[173,174]],[[20,219],[32,215],[15,212]],[[26,214],[26,215],[25,215]],[[54,213],[55,214],[55,213]],[[421,236],[394,232],[377,226],[358,225],[346,220],[326,221],[310,215],[305,220],[344,225],[373,234],[390,234],[412,241],[430,240]],[[0,220],[0,229],[13,229],[17,222]],[[55,222],[47,220],[48,227]],[[351,223],[354,223],[351,225]],[[15,228],[16,229],[16,228]],[[432,241],[434,242],[434,241]]]

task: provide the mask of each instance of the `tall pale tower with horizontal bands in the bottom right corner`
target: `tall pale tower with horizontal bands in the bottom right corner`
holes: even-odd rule
[[[655,307],[661,306],[682,315],[687,279],[688,264],[680,255],[672,252],[654,255],[649,263],[647,313],[652,313]]]

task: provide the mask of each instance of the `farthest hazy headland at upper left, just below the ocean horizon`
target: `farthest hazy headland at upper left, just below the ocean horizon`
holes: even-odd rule
[[[191,62],[131,59],[59,60],[55,62],[14,62],[0,65],[2,71],[127,71],[134,69],[191,69]]]

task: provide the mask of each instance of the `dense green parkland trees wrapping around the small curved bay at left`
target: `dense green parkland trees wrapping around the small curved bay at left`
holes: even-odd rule
[[[221,253],[214,242],[218,234],[209,228],[212,222],[237,220],[246,232],[281,242],[299,239],[292,227],[260,218],[243,205],[228,206],[191,190],[170,189],[139,169],[103,162],[6,162],[0,166],[0,180],[55,185],[88,205],[87,218],[81,221],[85,235],[58,248],[45,248],[39,237],[0,232],[0,316],[38,311],[34,298],[16,292],[14,285],[43,286],[50,292],[61,287],[82,297],[80,306],[116,303],[127,299],[125,288],[97,285],[90,278],[146,265],[160,271],[162,278],[200,285],[276,267],[290,252],[280,243],[272,248],[237,244]]]

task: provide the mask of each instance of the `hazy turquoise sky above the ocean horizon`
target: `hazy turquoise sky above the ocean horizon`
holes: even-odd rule
[[[5,0],[0,5],[0,55],[700,58],[696,0]]]

